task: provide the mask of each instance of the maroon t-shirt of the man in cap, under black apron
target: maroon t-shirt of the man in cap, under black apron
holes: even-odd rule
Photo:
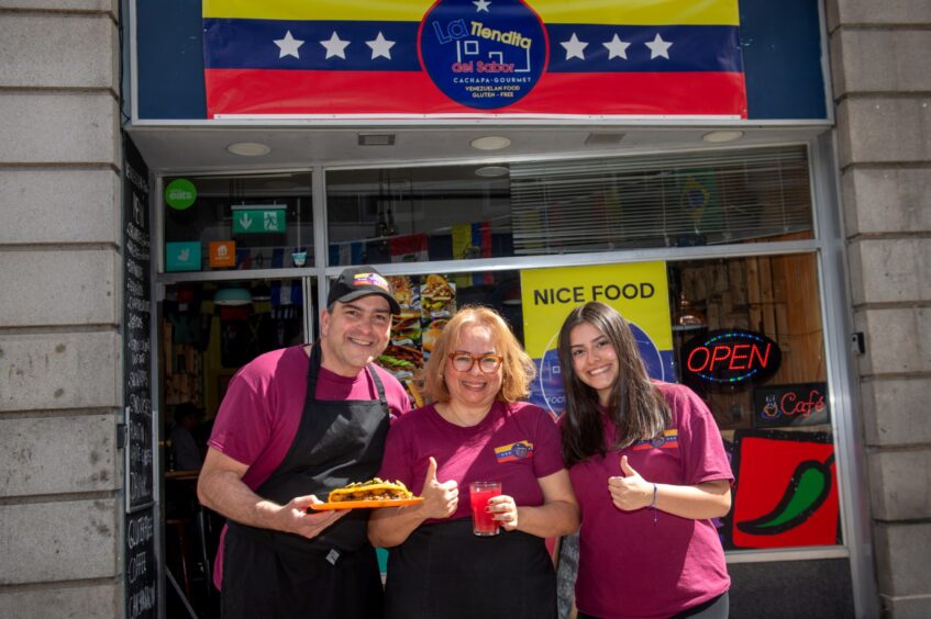
[[[236,372],[220,404],[208,444],[248,465],[243,483],[255,491],[278,468],[298,432],[307,396],[310,358],[303,346],[262,354]],[[372,365],[385,387],[391,420],[410,410],[410,399],[388,371]],[[317,399],[377,399],[378,390],[367,371],[347,378],[323,368]],[[325,497],[320,497],[325,499]],[[224,530],[225,533],[225,530]],[[220,587],[223,540],[217,554],[213,582]]]

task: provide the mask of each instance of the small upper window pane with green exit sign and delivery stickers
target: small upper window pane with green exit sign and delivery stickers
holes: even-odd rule
[[[166,272],[313,266],[310,173],[167,178],[163,198]]]

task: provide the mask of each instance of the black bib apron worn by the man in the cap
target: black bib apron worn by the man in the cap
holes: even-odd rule
[[[388,434],[388,402],[374,369],[377,401],[318,401],[320,347],[310,354],[307,397],[281,464],[257,489],[285,505],[325,499],[331,489],[372,479]],[[354,509],[314,539],[230,522],[223,547],[224,619],[381,617],[381,576],[368,543],[368,509]]]

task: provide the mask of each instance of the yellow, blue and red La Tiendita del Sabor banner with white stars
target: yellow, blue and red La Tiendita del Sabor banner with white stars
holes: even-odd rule
[[[738,0],[203,0],[208,116],[746,117]]]

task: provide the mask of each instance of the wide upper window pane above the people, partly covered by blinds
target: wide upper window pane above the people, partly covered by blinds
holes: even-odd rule
[[[810,239],[809,177],[805,146],[331,171],[328,263]]]

